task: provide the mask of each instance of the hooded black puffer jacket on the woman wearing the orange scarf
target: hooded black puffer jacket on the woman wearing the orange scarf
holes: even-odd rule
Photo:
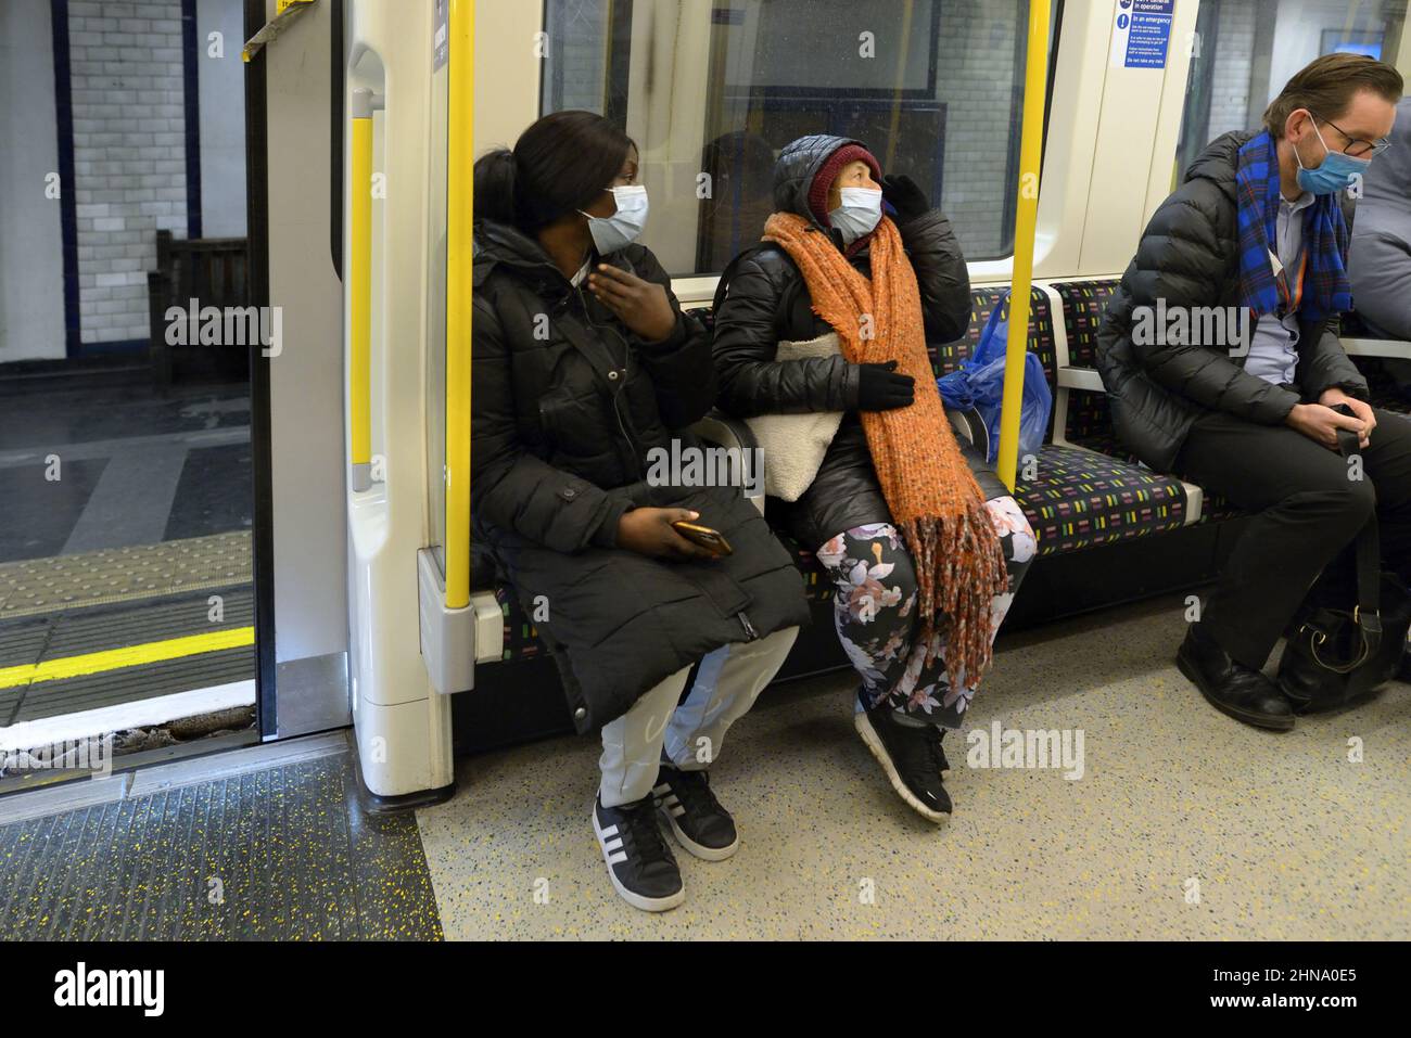
[[[840,248],[838,233],[821,227],[809,210],[809,188],[828,155],[855,142],[824,134],[806,137],[785,148],[775,168],[775,209],[804,217],[830,234]],[[959,338],[969,324],[969,275],[950,220],[933,209],[899,230],[921,291],[927,338],[938,343]],[[869,250],[854,255],[852,265],[871,276]],[[782,340],[817,338],[831,330],[807,306],[792,303],[800,293],[807,302],[803,275],[782,248],[756,251],[739,264],[729,281],[728,295],[715,313],[714,348],[720,406],[731,415],[848,412],[803,496],[792,505],[776,498],[768,502],[770,519],[814,549],[854,526],[890,522],[892,513],[882,498],[858,419],[859,367],[841,355],[775,360]],[[790,327],[793,315],[800,312],[809,315],[809,326]],[[965,457],[986,498],[1007,494],[978,451],[967,448]]]

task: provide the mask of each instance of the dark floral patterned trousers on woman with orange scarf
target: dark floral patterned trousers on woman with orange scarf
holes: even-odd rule
[[[1000,536],[1009,570],[1009,590],[996,595],[991,606],[993,640],[1037,544],[1013,498],[986,501],[985,508]],[[838,588],[832,612],[838,640],[862,676],[858,709],[872,709],[885,701],[916,719],[959,728],[975,684],[950,687],[940,633],[934,635],[933,646],[940,652],[926,664],[927,647],[916,640],[920,630],[916,570],[897,529],[890,523],[855,526],[830,537],[817,557]]]

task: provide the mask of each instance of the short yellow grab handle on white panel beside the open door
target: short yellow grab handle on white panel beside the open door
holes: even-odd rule
[[[353,175],[349,181],[349,461],[353,489],[373,485],[373,92],[353,92]]]

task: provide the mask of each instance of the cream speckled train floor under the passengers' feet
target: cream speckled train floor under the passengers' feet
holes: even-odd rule
[[[676,848],[687,900],[660,915],[608,883],[590,739],[463,760],[456,798],[418,812],[444,935],[1411,938],[1411,685],[1291,733],[1246,728],[1177,671],[1182,608],[1002,640],[974,726],[1081,728],[1084,774],[972,769],[951,735],[941,828],[882,778],[847,676],[768,691],[714,771],[742,846]]]

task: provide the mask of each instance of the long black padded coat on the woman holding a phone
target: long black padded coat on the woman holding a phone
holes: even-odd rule
[[[670,295],[646,248],[608,262]],[[809,619],[799,570],[739,489],[646,482],[649,451],[698,446],[686,426],[715,395],[710,338],[674,296],[672,307],[676,330],[646,343],[536,241],[476,226],[476,532],[525,609],[547,608],[539,632],[567,650],[560,673],[580,732],[713,649]],[[618,520],[636,506],[696,509],[734,554],[676,563],[618,549]]]

